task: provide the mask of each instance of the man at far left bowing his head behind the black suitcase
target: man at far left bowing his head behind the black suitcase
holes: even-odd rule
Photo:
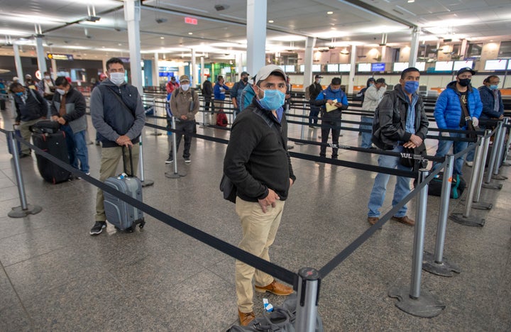
[[[14,124],[19,125],[23,140],[30,142],[30,127],[36,122],[46,118],[48,114],[48,103],[40,94],[33,89],[23,87],[19,82],[11,84],[9,91],[13,95],[16,109]],[[28,148],[27,145],[21,144],[20,157],[29,157],[30,155],[31,149]]]

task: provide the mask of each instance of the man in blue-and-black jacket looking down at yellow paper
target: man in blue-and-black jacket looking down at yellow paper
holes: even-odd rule
[[[317,106],[322,106],[322,143],[328,141],[331,131],[332,143],[339,145],[342,110],[348,109],[348,97],[341,90],[341,78],[334,77],[329,87],[318,94],[315,102]],[[338,151],[339,148],[332,148],[332,159],[337,159]],[[319,157],[326,157],[326,145],[321,146]]]

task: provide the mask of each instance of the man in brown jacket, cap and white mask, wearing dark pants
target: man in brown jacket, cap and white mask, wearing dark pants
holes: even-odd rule
[[[185,132],[185,150],[183,150],[183,158],[185,162],[189,164],[191,162],[189,149],[190,146],[192,146],[192,136],[186,133],[195,132],[195,114],[199,111],[200,106],[199,95],[193,89],[190,89],[189,77],[187,77],[187,75],[182,75],[180,77],[180,83],[181,87],[174,90],[172,96],[170,96],[170,108],[176,119],[176,130]],[[176,149],[179,150],[182,134],[175,133],[174,135],[176,135]],[[174,157],[171,148],[169,157],[165,160],[165,164],[170,164],[172,162],[174,162]]]

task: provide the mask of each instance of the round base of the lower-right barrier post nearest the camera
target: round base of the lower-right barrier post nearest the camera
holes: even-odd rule
[[[412,299],[409,292],[410,287],[393,287],[388,295],[398,300],[395,304],[397,308],[417,317],[436,317],[446,307],[445,304],[435,299],[433,294],[426,290],[421,290],[421,296],[417,299]]]

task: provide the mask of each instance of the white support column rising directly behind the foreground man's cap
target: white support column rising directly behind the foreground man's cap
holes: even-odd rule
[[[247,72],[265,65],[267,0],[247,0]]]

